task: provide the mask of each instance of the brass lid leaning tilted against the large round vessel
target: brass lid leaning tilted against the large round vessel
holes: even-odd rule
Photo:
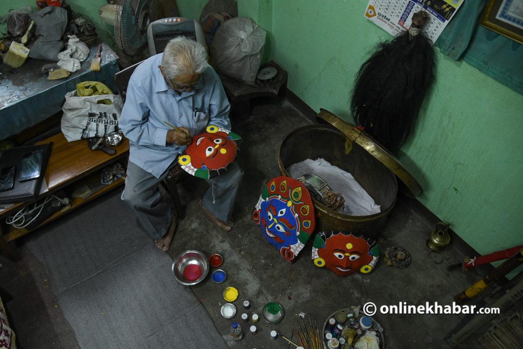
[[[400,181],[407,186],[413,196],[423,192],[422,186],[418,181],[416,181],[416,178],[414,178],[414,176],[410,174],[402,164],[400,164],[400,161],[380,144],[373,141],[365,132],[361,131],[351,123],[338,118],[336,115],[332,114],[332,112],[322,108],[320,108],[317,117],[327,121],[332,126],[342,131],[350,140],[356,142],[361,146],[361,148],[376,157],[379,162],[389,168],[389,170],[400,178]]]

